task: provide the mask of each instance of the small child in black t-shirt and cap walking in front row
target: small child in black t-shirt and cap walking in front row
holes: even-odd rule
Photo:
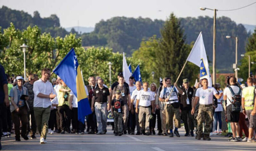
[[[121,136],[123,134],[123,111],[124,111],[124,102],[120,98],[121,91],[117,90],[115,92],[116,98],[111,102],[111,113],[114,117],[114,124],[115,124],[115,136]]]

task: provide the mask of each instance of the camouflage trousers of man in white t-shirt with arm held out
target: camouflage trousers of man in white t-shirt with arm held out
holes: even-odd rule
[[[211,123],[213,121],[213,107],[212,105],[199,105],[199,110],[197,114],[197,134],[203,134],[203,122],[204,134],[209,135],[211,129]]]

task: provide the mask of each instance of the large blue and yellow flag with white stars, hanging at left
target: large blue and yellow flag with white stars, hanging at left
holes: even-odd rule
[[[78,101],[78,120],[84,123],[86,115],[91,114],[91,107],[84,88],[84,82],[77,61],[77,56],[72,48],[64,59],[53,70],[71,89]]]

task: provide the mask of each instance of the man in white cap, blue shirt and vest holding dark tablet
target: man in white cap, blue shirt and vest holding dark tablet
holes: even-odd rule
[[[26,135],[27,132],[27,126],[28,126],[28,117],[27,113],[29,111],[28,103],[26,100],[29,99],[28,97],[28,90],[26,87],[23,87],[23,77],[17,76],[17,85],[13,87],[10,91],[10,97],[11,97],[11,113],[12,113],[12,120],[14,123],[14,129],[15,129],[15,140],[20,141],[20,121],[22,123],[22,129],[21,129],[21,137],[23,137],[25,140],[28,140],[28,137]],[[22,95],[27,95],[25,99],[21,99]]]

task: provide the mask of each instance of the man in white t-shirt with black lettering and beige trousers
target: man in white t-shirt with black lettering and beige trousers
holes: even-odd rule
[[[150,135],[149,133],[149,119],[151,115],[150,106],[152,106],[152,113],[154,112],[154,96],[153,94],[148,91],[149,84],[148,82],[143,83],[143,91],[137,95],[137,102],[135,112],[139,113],[139,123],[140,123],[140,130],[144,133],[144,126],[145,126],[145,135]],[[140,106],[138,111],[138,106]],[[146,122],[144,119],[144,114],[146,114]]]

